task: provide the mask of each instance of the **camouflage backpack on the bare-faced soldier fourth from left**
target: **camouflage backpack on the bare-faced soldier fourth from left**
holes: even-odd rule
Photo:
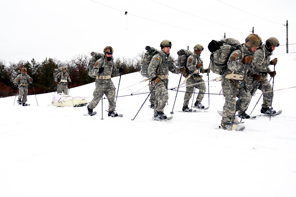
[[[159,53],[160,51],[157,50],[156,48],[153,48],[153,47],[149,47],[149,46],[146,46],[145,49],[147,50],[146,53],[144,54],[144,56],[139,59],[139,72],[141,73],[142,76],[144,77],[149,77],[148,75],[148,66],[150,64],[150,61],[152,59],[152,57]],[[162,58],[160,59],[160,64],[161,64],[161,61],[162,61]]]

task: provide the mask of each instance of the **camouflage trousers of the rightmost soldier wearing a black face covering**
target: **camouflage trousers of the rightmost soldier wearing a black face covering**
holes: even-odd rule
[[[248,77],[247,86],[249,87],[250,92],[254,88],[255,83],[256,83],[256,80],[253,82],[253,78]],[[257,89],[260,89],[262,92],[267,92],[267,93],[263,93],[263,104],[261,106],[262,106],[262,108],[269,108],[271,106],[271,101],[272,101],[271,98],[274,97],[273,92],[268,92],[268,91],[272,91],[271,84],[269,83],[269,81],[267,79],[265,79],[265,80],[257,83],[256,87],[253,90],[253,94],[255,94]],[[250,100],[250,102],[251,102],[251,100]]]

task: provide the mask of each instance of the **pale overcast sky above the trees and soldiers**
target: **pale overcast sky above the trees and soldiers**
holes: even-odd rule
[[[254,27],[262,41],[276,37],[286,53],[286,21],[289,44],[296,43],[295,3],[282,1],[164,0],[7,0],[0,1],[0,60],[6,65],[20,60],[71,60],[90,56],[112,46],[115,58],[134,58],[146,45],[159,48],[172,42],[171,55],[181,48],[207,50],[211,40],[236,38],[241,43]],[[188,1],[184,1],[188,2]],[[221,11],[223,10],[223,11]],[[125,14],[124,12],[128,12]],[[295,48],[295,49],[294,49]],[[289,45],[289,53],[296,45]],[[209,53],[202,53],[208,59]]]

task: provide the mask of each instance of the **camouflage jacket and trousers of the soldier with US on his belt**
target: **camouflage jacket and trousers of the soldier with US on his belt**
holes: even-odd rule
[[[253,55],[254,53],[250,51],[245,44],[242,44],[242,48],[244,51],[244,56]],[[225,103],[223,106],[223,115],[222,115],[222,124],[227,125],[231,123],[234,119],[235,115],[235,108],[236,108],[236,97],[239,96],[239,91],[241,90],[241,97],[240,101],[238,102],[237,111],[238,114],[241,114],[247,108],[247,105],[250,103],[251,95],[246,87],[246,83],[244,82],[244,86],[241,86],[242,80],[234,80],[234,79],[226,79],[225,76],[231,74],[232,71],[235,71],[234,74],[244,75],[246,66],[248,66],[248,70],[250,70],[250,66],[254,65],[253,60],[251,61],[250,65],[242,64],[242,51],[237,49],[234,50],[231,55],[229,56],[229,60],[227,62],[227,69],[225,73],[222,75],[222,89],[223,95],[225,97]],[[241,88],[238,88],[241,87]]]

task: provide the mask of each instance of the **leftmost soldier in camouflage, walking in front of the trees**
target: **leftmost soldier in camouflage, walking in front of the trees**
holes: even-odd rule
[[[27,74],[27,69],[22,68],[22,72],[15,78],[15,84],[18,85],[19,97],[18,104],[26,106],[27,95],[28,95],[28,85],[33,83],[33,79]]]

